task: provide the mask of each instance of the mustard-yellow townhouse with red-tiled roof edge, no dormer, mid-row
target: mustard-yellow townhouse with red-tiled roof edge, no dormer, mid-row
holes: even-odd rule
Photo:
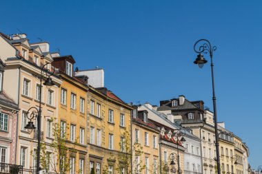
[[[119,167],[118,155],[125,131],[131,131],[132,107],[108,89],[90,86],[88,91],[88,173],[125,173]],[[131,143],[131,142],[130,142]],[[114,159],[115,157],[115,159]]]

